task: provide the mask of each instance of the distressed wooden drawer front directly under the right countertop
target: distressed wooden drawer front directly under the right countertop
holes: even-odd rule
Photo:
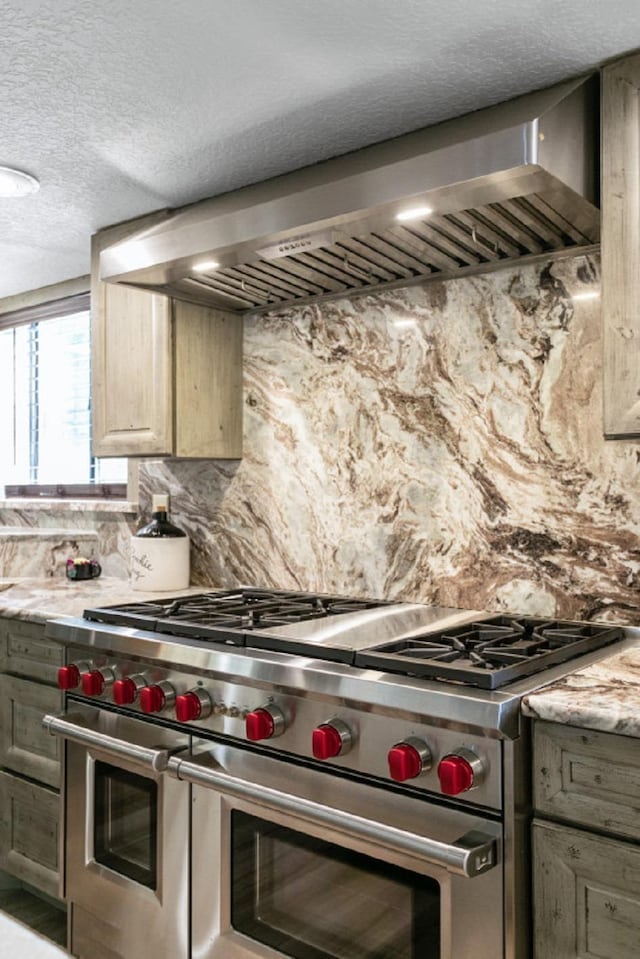
[[[533,763],[539,812],[640,839],[637,739],[537,722]]]

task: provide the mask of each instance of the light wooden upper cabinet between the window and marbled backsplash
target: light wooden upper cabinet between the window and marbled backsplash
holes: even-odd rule
[[[155,214],[93,237],[95,456],[242,456],[242,317],[98,279],[102,249]]]

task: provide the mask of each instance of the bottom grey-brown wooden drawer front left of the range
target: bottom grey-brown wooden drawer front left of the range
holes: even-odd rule
[[[0,869],[58,897],[60,796],[0,772]]]

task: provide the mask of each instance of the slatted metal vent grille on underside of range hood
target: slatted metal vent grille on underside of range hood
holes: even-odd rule
[[[505,261],[593,243],[543,196],[531,194],[477,209],[398,224],[277,260],[241,264],[174,281],[171,292],[218,300],[238,311],[274,309],[428,279],[487,272]]]

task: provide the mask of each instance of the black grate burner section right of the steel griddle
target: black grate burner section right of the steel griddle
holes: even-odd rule
[[[358,653],[356,666],[497,689],[621,639],[618,627],[497,617]]]

